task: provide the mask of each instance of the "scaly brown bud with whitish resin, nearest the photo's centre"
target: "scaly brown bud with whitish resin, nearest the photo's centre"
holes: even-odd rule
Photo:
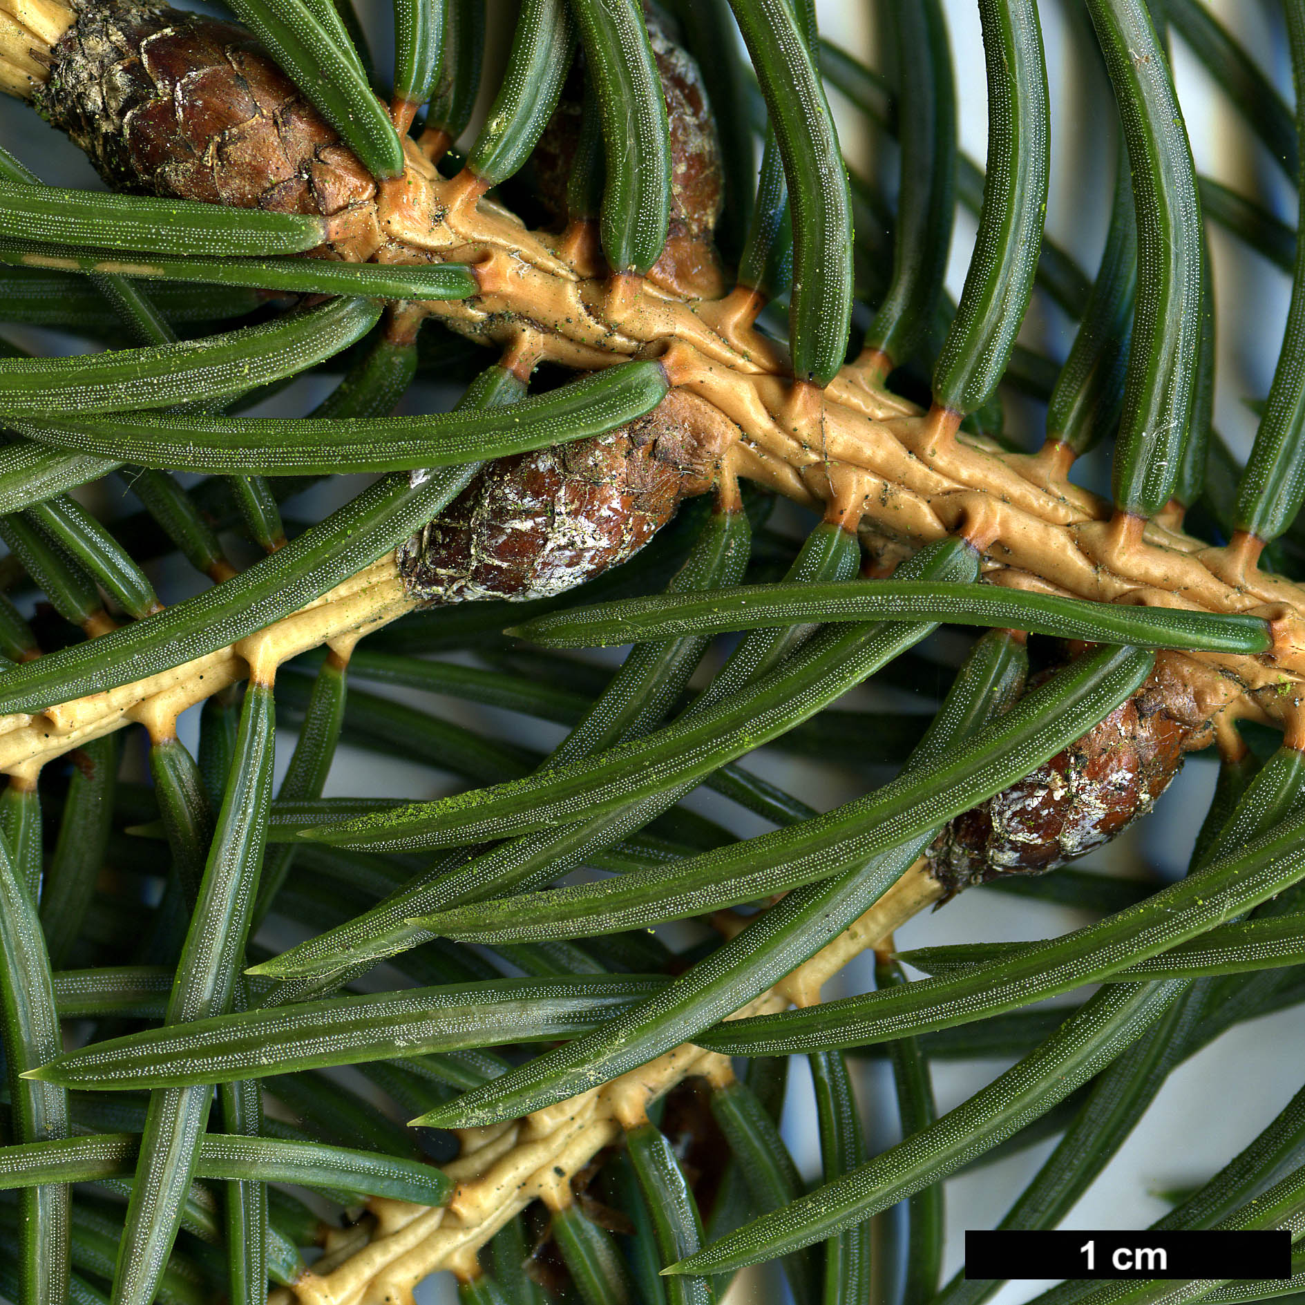
[[[672,390],[607,435],[489,463],[398,549],[428,603],[560,594],[642,548],[716,478],[726,423]]]

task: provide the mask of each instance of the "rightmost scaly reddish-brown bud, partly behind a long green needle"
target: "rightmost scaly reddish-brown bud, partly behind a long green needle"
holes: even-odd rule
[[[1184,754],[1212,739],[1182,660],[1160,654],[1143,686],[1095,729],[957,816],[929,848],[933,874],[951,893],[1002,874],[1039,874],[1108,843],[1146,814]]]

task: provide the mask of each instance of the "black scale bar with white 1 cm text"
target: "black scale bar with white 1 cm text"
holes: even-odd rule
[[[1292,1237],[1282,1232],[966,1233],[966,1278],[1292,1276]]]

